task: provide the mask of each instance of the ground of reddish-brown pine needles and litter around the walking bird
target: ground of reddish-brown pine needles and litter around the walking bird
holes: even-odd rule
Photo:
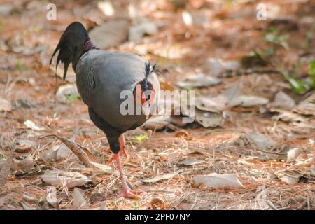
[[[315,209],[315,104],[299,107],[315,93],[311,88],[293,91],[279,72],[295,71],[300,63],[298,78],[307,76],[307,62],[315,59],[315,2],[263,1],[274,16],[265,21],[256,18],[260,1],[111,2],[113,15],[102,13],[98,1],[51,1],[57,20],[48,21],[49,2],[1,1],[0,9],[6,4],[12,10],[7,15],[0,10],[0,99],[12,108],[0,111],[0,209]],[[38,138],[56,134],[72,139],[106,165],[110,155],[102,152],[109,144],[90,121],[87,106],[76,95],[66,102],[56,97],[59,86],[75,81],[73,71],[65,81],[55,78],[55,61],[52,67],[49,62],[62,31],[75,20],[88,30],[121,19],[137,24],[128,15],[130,3],[158,31],[106,50],[134,52],[158,62],[162,88],[178,88],[177,81],[207,73],[209,58],[241,62],[254,50],[274,50],[265,56],[266,66],[223,71],[216,77],[221,83],[194,87],[198,96],[214,97],[241,83],[243,95],[264,97],[267,103],[225,107],[218,113],[223,123],[213,127],[197,122],[183,126],[177,116],[177,122],[174,117],[162,127],[125,134],[130,158],[123,158],[123,168],[130,186],[144,191],[137,200],[120,197],[116,169],[85,167],[62,141]],[[274,19],[278,17],[286,20]],[[268,43],[264,34],[270,27],[289,38]],[[295,107],[268,106],[280,91]],[[267,136],[272,147],[258,147],[247,140],[248,133]],[[141,134],[146,138],[137,140]],[[288,160],[292,150],[299,153]],[[66,183],[48,188],[52,184],[41,176],[54,169],[78,172],[90,181],[78,186],[80,190]],[[242,187],[195,183],[196,176],[211,173],[235,174]],[[48,189],[57,203],[48,198]]]

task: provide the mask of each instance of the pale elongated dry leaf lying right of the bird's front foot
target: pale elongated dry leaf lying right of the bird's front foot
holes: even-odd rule
[[[210,188],[244,188],[235,174],[207,174],[195,176],[193,181],[197,186]]]

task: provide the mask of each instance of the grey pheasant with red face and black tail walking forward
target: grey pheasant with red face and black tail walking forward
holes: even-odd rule
[[[72,22],[66,27],[50,64],[57,52],[56,72],[59,62],[64,64],[65,80],[69,64],[72,64],[78,93],[88,107],[90,119],[109,141],[109,148],[104,152],[113,153],[109,162],[116,161],[123,197],[137,198],[142,192],[128,185],[120,156],[128,157],[124,133],[144,124],[157,109],[160,83],[155,64],[132,53],[101,50],[80,22]],[[120,94],[124,90],[132,94],[129,99],[132,104],[127,107],[130,106],[133,113],[121,113],[121,105],[126,99],[121,99]],[[140,113],[136,113],[139,108]]]

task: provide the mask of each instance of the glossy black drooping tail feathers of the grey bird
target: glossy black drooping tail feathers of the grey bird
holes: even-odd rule
[[[62,34],[50,59],[50,64],[52,64],[52,58],[59,51],[56,64],[56,75],[59,62],[64,64],[64,80],[66,79],[66,72],[68,71],[70,63],[72,63],[73,70],[76,70],[78,60],[86,52],[84,44],[87,37],[87,31],[80,22],[72,22],[71,25],[66,27],[66,30]]]

